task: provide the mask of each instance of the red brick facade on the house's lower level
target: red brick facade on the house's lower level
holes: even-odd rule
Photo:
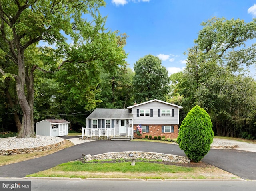
[[[146,124],[142,124],[146,125]],[[142,138],[145,138],[145,135],[151,135],[152,138],[154,139],[154,136],[165,136],[165,138],[171,138],[171,139],[176,139],[178,137],[178,125],[173,125],[174,126],[174,132],[173,133],[162,133],[162,125],[148,125],[149,126],[149,132],[148,133],[143,133]],[[167,124],[165,125],[167,126]],[[137,125],[133,126],[133,130],[137,131]],[[139,138],[139,136],[134,133],[133,134],[134,138]]]

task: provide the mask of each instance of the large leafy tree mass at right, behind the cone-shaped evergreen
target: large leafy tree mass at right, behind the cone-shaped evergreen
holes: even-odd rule
[[[185,113],[205,108],[218,136],[238,136],[255,116],[255,80],[245,69],[256,61],[256,20],[212,18],[202,26],[186,68],[172,76],[172,98]]]

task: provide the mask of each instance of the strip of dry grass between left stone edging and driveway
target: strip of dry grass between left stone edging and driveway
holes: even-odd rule
[[[52,154],[54,152],[57,152],[64,148],[68,148],[70,146],[74,146],[74,144],[69,140],[64,140],[64,144],[62,144],[60,147],[46,150],[46,151],[34,152],[34,153],[28,153],[28,154],[7,155],[7,156],[2,155],[0,156],[0,166],[38,158],[41,156]]]

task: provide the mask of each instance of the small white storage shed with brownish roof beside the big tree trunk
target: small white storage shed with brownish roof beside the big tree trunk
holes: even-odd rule
[[[36,123],[36,135],[66,136],[69,122],[64,119],[45,119]]]

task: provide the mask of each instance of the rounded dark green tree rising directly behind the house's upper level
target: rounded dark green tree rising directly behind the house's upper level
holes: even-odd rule
[[[144,102],[152,99],[166,100],[170,91],[168,71],[162,61],[153,55],[146,55],[134,64],[134,99]]]

